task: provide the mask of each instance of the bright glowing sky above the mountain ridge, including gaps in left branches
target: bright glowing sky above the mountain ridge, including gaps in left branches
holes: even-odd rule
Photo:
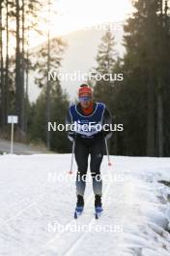
[[[132,12],[131,0],[51,0],[49,24],[40,23],[42,31],[50,28],[50,36],[65,35],[104,22],[121,22]],[[46,6],[41,10],[47,16]],[[31,35],[34,45],[44,37]]]

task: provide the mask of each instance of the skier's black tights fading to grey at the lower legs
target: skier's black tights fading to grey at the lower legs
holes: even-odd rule
[[[76,194],[84,196],[86,187],[86,175],[88,169],[88,157],[91,156],[90,169],[93,178],[93,190],[95,195],[102,194],[102,180],[100,176],[100,164],[104,151],[104,139],[101,135],[93,139],[77,138],[75,140],[75,160],[78,166],[76,176]]]

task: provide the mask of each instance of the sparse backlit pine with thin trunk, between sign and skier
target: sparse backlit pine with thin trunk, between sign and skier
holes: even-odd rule
[[[35,62],[34,70],[37,73],[35,82],[37,85],[39,85],[39,87],[42,88],[42,94],[41,97],[38,99],[37,104],[38,107],[39,105],[43,106],[43,108],[41,109],[42,112],[40,113],[42,118],[41,124],[43,127],[43,132],[42,135],[41,133],[40,135],[37,135],[39,137],[41,136],[42,141],[46,142],[48,149],[51,149],[55,148],[55,140],[51,139],[50,136],[45,136],[46,139],[44,140],[44,134],[49,134],[49,132],[47,131],[47,123],[48,121],[52,121],[52,119],[54,119],[54,116],[58,116],[60,119],[62,116],[65,116],[66,113],[63,114],[61,110],[65,110],[66,106],[68,106],[68,99],[66,93],[62,92],[60,80],[58,80],[57,77],[56,80],[48,80],[48,72],[50,72],[50,74],[59,73],[59,68],[61,67],[62,61],[62,54],[64,52],[64,49],[66,48],[66,44],[59,38],[54,38],[50,40],[50,55],[48,51],[48,44],[49,42],[43,44],[42,47],[38,48],[35,52],[34,58],[37,61]],[[48,109],[46,108],[47,106]],[[55,106],[57,107],[55,108]],[[56,111],[57,109],[58,112]],[[46,112],[47,110],[48,112]]]

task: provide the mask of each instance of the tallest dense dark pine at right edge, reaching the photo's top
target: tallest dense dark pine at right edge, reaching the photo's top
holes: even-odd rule
[[[162,90],[162,81],[167,79],[165,70],[167,69],[168,60],[165,51],[167,51],[169,43],[167,33],[164,32],[162,25],[164,14],[161,11],[161,2],[159,0],[135,1],[136,11],[128,18],[125,26],[127,54],[124,58],[124,73],[126,80],[122,93],[125,92],[127,98],[132,98],[132,91],[134,92],[131,101],[129,99],[127,101],[131,110],[134,110],[133,119],[135,118],[135,124],[133,126],[136,126],[136,118],[139,121],[135,127],[136,129],[133,129],[133,139],[130,140],[130,146],[136,148],[139,154],[139,148],[143,148],[141,153],[150,156],[159,154],[158,151],[161,151],[157,148],[157,133],[159,133],[159,138],[162,137],[160,122],[163,99],[160,97],[160,91]],[[164,62],[166,62],[166,65],[163,64]],[[157,107],[157,104],[159,104],[159,107]],[[124,106],[124,108],[126,112],[127,107]],[[128,113],[127,116],[129,120],[128,129],[130,123],[132,123],[132,115],[130,116]],[[136,131],[138,133],[140,131],[141,140],[137,138]],[[135,140],[134,134],[136,134]],[[125,137],[128,136],[130,137],[130,134],[126,136],[125,133]],[[162,139],[160,141],[162,143]]]

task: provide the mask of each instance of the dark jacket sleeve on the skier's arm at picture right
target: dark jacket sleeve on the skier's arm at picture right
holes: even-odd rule
[[[103,112],[103,118],[102,118],[102,125],[105,124],[104,127],[106,127],[106,130],[102,130],[104,139],[109,140],[112,137],[112,130],[111,125],[113,123],[113,117],[109,110],[105,107],[105,110]]]

